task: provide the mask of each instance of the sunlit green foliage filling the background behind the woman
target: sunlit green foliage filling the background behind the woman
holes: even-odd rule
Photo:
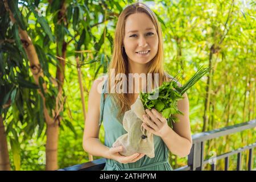
[[[0,1],[1,2],[1,1]],[[114,28],[117,15],[129,3],[137,1],[65,1],[67,4],[68,26],[57,26],[55,20],[55,6],[59,1],[49,6],[48,1],[19,1],[19,10],[27,22],[27,31],[32,42],[37,45],[37,52],[42,53],[40,63],[44,75],[48,80],[48,89],[54,89],[50,81],[56,75],[56,39],[57,43],[65,40],[70,42],[67,47],[65,60],[65,81],[63,123],[59,135],[58,160],[59,168],[88,162],[88,154],[82,149],[82,133],[84,119],[80,97],[79,82],[75,56],[81,61],[82,76],[84,81],[85,101],[94,78],[100,73],[106,73],[107,65],[112,56]],[[210,104],[207,115],[209,121],[205,131],[235,125],[256,118],[255,113],[255,2],[254,1],[140,1],[146,3],[157,14],[163,30],[165,68],[171,75],[176,75],[183,84],[195,73],[201,64],[209,65],[209,60],[214,67],[210,73]],[[1,22],[6,16],[1,5]],[[37,13],[31,12],[31,6]],[[56,5],[57,6],[57,5]],[[37,16],[38,13],[42,16]],[[108,15],[107,15],[108,14]],[[43,18],[39,18],[43,17]],[[104,20],[106,20],[104,22]],[[47,24],[45,24],[47,22]],[[3,27],[1,27],[3,28]],[[14,31],[15,25],[6,27]],[[11,34],[9,34],[11,35]],[[82,38],[84,37],[84,38]],[[8,38],[8,39],[9,39]],[[1,44],[6,41],[1,36]],[[15,39],[16,40],[16,39]],[[1,45],[0,44],[0,45]],[[1,45],[1,46],[2,46]],[[24,55],[19,43],[14,43],[16,52]],[[13,49],[14,49],[13,48]],[[7,56],[11,52],[3,51],[1,47],[0,61],[5,65]],[[92,53],[76,53],[79,50],[90,50]],[[211,54],[212,52],[212,54]],[[13,52],[14,53],[14,52]],[[15,55],[19,57],[20,55]],[[20,67],[28,67],[26,56],[22,56]],[[19,63],[16,63],[19,64]],[[15,67],[14,75],[23,72]],[[2,67],[5,69],[5,67]],[[7,73],[6,73],[7,74]],[[33,81],[31,72],[22,73],[24,79]],[[7,78],[7,77],[6,77]],[[1,78],[2,79],[2,78]],[[5,77],[1,85],[6,85]],[[17,85],[20,85],[18,82]],[[31,94],[40,110],[40,101],[35,89],[17,86],[20,95]],[[207,76],[203,77],[191,90],[189,90],[190,121],[192,134],[203,130],[203,117],[205,110]],[[13,91],[11,92],[13,93]],[[14,94],[14,93],[13,93]],[[6,94],[1,93],[4,98]],[[17,101],[16,93],[14,96]],[[25,100],[25,98],[23,98]],[[36,104],[35,104],[36,105]],[[20,170],[44,170],[45,168],[45,123],[26,120],[27,105],[24,102],[12,104],[6,111],[4,124],[7,129],[7,140],[11,148],[11,140],[15,140],[20,154]],[[23,111],[23,117],[20,113]],[[33,111],[34,112],[34,111]],[[37,113],[40,114],[40,113]],[[22,114],[21,114],[22,115]],[[34,123],[31,125],[30,123]],[[26,130],[26,127],[30,129]],[[100,139],[104,143],[104,126],[101,127]],[[35,130],[34,130],[35,129]],[[26,130],[26,131],[25,131]],[[27,131],[31,131],[30,133]],[[42,133],[39,135],[38,133]],[[15,137],[16,135],[16,137]],[[246,130],[228,138],[221,137],[206,143],[205,158],[210,157],[210,151],[217,154],[237,149],[256,140],[255,129]],[[9,150],[12,169],[14,166],[13,150]],[[254,149],[255,156],[255,149]],[[242,155],[243,169],[248,154]],[[97,159],[97,158],[94,158]],[[17,159],[16,159],[17,160]],[[230,170],[236,169],[236,156],[232,156]],[[187,164],[187,158],[177,158],[170,155],[170,162],[174,168]],[[223,169],[223,161],[219,162],[217,169]],[[256,161],[254,160],[254,166]],[[208,167],[208,166],[207,166]],[[209,168],[209,167],[208,167]]]

